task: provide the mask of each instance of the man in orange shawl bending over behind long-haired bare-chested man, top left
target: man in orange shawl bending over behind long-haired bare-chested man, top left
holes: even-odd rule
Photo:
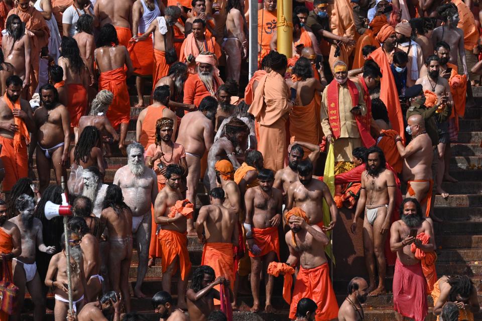
[[[43,47],[49,43],[50,29],[45,22],[42,13],[30,6],[29,0],[19,0],[18,6],[9,12],[11,15],[17,15],[20,17],[23,23],[25,23],[25,30],[31,32],[31,53],[30,53],[30,88],[29,98],[35,93],[37,85],[39,84],[39,68],[40,68],[40,51]]]

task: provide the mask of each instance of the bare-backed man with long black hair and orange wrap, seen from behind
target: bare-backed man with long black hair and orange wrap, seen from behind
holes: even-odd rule
[[[113,35],[112,39],[108,38],[109,34]],[[114,129],[121,126],[119,149],[124,153],[127,128],[131,120],[131,102],[126,79],[133,73],[132,61],[126,48],[118,46],[114,26],[104,25],[100,29],[99,39],[105,40],[103,44],[97,43],[99,48],[94,51],[95,62],[100,72],[99,90],[106,89],[114,94],[112,104],[107,111],[107,118]],[[112,44],[114,44],[113,47]],[[124,66],[127,66],[127,72]]]

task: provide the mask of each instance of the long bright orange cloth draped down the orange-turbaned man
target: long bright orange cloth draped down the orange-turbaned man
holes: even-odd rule
[[[386,26],[384,26],[384,28]],[[390,28],[393,29],[393,27]],[[380,33],[382,33],[382,31],[380,31]],[[380,33],[378,36],[380,36]],[[388,117],[390,123],[392,124],[392,128],[397,131],[402,139],[405,140],[405,126],[403,123],[402,107],[400,106],[400,100],[398,99],[398,92],[397,87],[395,86],[395,79],[393,78],[392,69],[390,68],[390,64],[383,47],[380,47],[372,52],[370,54],[370,59],[373,59],[373,61],[378,64],[380,71],[382,72],[382,80],[380,82],[380,99],[382,99],[387,106]]]

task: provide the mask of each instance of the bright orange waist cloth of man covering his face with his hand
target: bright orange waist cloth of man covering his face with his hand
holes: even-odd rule
[[[315,301],[318,308],[315,312],[316,321],[325,321],[337,318],[338,303],[335,292],[331,286],[328,264],[324,263],[312,269],[304,269],[296,276],[293,298],[290,306],[290,319],[295,319],[296,306],[299,300],[309,297]]]

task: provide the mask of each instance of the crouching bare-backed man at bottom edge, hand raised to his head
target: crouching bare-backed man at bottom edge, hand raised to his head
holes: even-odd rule
[[[121,321],[121,295],[110,291],[100,300],[87,303],[77,315],[78,321]],[[113,317],[112,317],[113,314]]]

